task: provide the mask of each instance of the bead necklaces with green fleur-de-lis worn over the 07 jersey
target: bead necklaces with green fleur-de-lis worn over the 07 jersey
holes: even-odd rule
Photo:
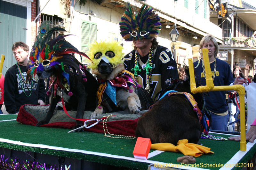
[[[152,89],[149,87],[149,84],[151,83],[151,76],[152,76],[152,70],[153,70],[153,60],[154,60],[154,50],[151,47],[149,50],[149,54],[148,54],[148,61],[146,63],[146,66],[143,68],[143,70],[146,71],[146,75],[147,75],[147,86],[145,88],[145,90],[150,93],[152,91]],[[141,69],[139,69],[139,52],[136,50],[136,54],[135,54],[135,60],[134,60],[134,68],[132,68],[132,71],[134,71],[134,78],[135,80],[139,83],[138,81],[138,72],[141,72]]]

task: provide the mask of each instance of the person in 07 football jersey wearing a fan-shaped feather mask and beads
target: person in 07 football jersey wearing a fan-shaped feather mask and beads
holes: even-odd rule
[[[161,30],[159,21],[153,8],[143,5],[137,11],[129,7],[119,23],[124,40],[133,41],[134,44],[134,50],[124,57],[124,67],[134,73],[138,83],[153,99],[173,79],[178,79],[172,51],[158,45],[156,41]]]

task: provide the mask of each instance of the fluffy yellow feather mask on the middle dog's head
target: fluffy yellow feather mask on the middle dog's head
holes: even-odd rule
[[[91,63],[88,68],[91,68],[92,70],[96,69],[101,59],[108,60],[112,63],[113,67],[118,63],[124,63],[122,60],[124,55],[122,52],[123,49],[124,48],[116,41],[95,41],[89,48],[89,57],[93,63]]]

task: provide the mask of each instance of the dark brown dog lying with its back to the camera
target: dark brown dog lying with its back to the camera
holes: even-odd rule
[[[180,81],[178,92],[190,92],[188,81]],[[173,84],[173,86],[175,83]],[[172,89],[169,89],[172,90]],[[192,94],[198,107],[202,110],[202,94]],[[136,137],[150,138],[151,143],[172,143],[188,139],[189,143],[198,144],[203,128],[198,120],[196,110],[183,94],[166,96],[158,100],[153,107],[144,113],[138,121]]]

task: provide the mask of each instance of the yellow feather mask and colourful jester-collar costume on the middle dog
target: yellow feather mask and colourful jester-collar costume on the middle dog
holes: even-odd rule
[[[122,52],[123,47],[118,44],[118,42],[95,42],[90,46],[89,57],[92,60],[92,63],[88,66],[93,70],[96,69],[101,60],[106,63],[111,63],[113,65],[113,69],[117,64],[123,64],[123,55]],[[113,56],[108,56],[107,53],[111,52],[114,54]],[[98,57],[100,56],[100,57]],[[100,84],[99,89],[97,91],[97,104],[98,107],[100,104],[103,104],[108,108],[108,112],[111,111],[121,111],[120,107],[116,104],[116,92],[122,88],[129,90],[130,86],[133,85],[135,88],[138,83],[136,82],[134,75],[126,70],[121,71],[114,79],[105,80],[105,79],[97,79]]]

